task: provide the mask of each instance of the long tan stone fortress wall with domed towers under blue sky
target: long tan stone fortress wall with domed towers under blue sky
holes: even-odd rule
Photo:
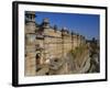
[[[25,76],[35,76],[37,65],[48,59],[63,59],[70,50],[85,44],[82,35],[51,26],[45,18],[42,24],[35,23],[35,12],[25,12]]]

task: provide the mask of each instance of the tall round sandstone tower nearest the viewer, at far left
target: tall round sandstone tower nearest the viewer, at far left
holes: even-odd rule
[[[25,12],[25,76],[35,76],[35,12]]]

